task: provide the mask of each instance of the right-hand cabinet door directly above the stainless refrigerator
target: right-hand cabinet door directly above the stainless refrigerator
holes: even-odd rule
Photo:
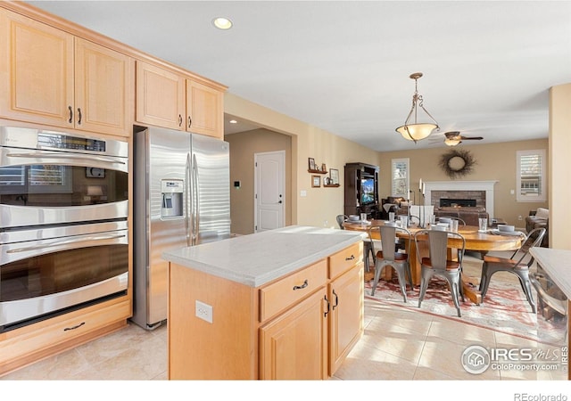
[[[186,131],[223,139],[223,100],[220,91],[186,79]]]

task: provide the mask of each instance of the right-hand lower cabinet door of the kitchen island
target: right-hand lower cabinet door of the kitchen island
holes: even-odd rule
[[[333,375],[363,333],[363,263],[329,284],[329,375]]]

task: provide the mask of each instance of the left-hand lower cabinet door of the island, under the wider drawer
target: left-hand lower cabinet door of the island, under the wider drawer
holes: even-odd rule
[[[260,329],[261,380],[327,378],[325,288]]]

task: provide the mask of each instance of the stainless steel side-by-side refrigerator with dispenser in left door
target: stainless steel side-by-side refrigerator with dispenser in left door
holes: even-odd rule
[[[229,143],[150,127],[134,135],[133,317],[167,319],[166,250],[230,237]]]

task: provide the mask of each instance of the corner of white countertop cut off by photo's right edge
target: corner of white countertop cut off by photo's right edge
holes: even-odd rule
[[[571,250],[534,247],[529,251],[567,299],[571,299]]]

